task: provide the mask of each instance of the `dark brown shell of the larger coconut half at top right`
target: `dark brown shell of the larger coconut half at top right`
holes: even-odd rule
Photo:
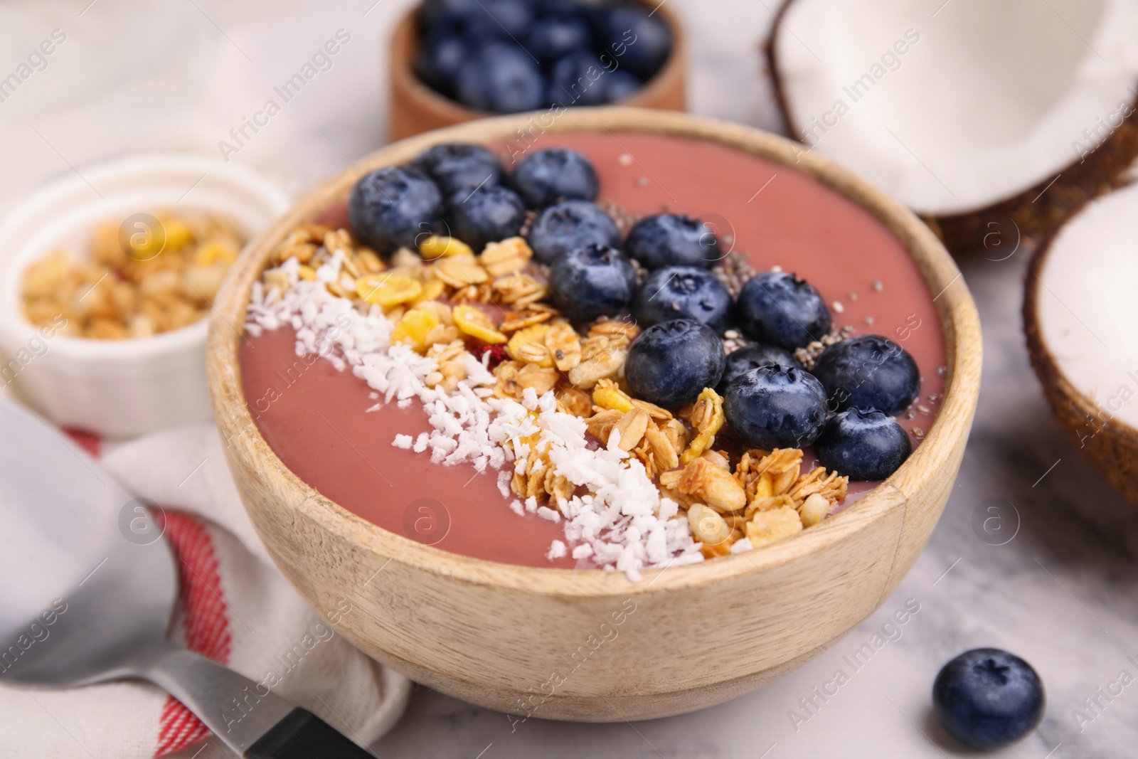
[[[794,0],[785,0],[775,14],[770,36],[764,46],[770,72],[775,102],[786,122],[787,133],[800,142],[801,131],[786,102],[775,46],[784,28],[783,18]],[[1138,99],[1130,115],[1092,152],[1073,160],[1058,178],[1050,178],[1023,192],[997,204],[966,214],[948,216],[922,215],[922,220],[940,237],[955,256],[992,249],[1014,239],[1026,250],[1039,249],[1042,242],[1069,218],[1095,198],[1122,184],[1119,178],[1138,158]],[[995,234],[995,237],[993,237]]]

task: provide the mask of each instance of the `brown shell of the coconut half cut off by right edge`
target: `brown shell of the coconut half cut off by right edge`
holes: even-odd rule
[[[1040,278],[1057,232],[1054,230],[1045,239],[1028,267],[1023,298],[1028,355],[1059,424],[1095,469],[1128,501],[1138,505],[1138,429],[1113,419],[1067,380],[1039,328]]]

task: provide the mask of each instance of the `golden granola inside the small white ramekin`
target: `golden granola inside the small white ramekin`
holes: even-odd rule
[[[94,228],[86,259],[52,250],[24,272],[25,317],[94,339],[149,337],[191,324],[209,311],[245,245],[220,214],[159,212],[157,229]]]

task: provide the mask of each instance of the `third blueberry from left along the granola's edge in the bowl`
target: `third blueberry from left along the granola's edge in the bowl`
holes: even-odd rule
[[[605,245],[567,253],[550,267],[550,299],[575,322],[615,316],[628,307],[635,287],[632,263]]]

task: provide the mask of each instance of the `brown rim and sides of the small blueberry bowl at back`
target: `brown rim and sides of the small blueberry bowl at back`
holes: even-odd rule
[[[634,1],[640,2],[640,0]],[[402,88],[403,91],[410,92],[412,97],[426,102],[432,110],[446,115],[455,123],[497,117],[500,114],[468,108],[461,102],[446,97],[442,92],[436,92],[415,75],[413,64],[415,53],[419,51],[419,35],[418,30],[415,28],[415,14],[418,10],[418,5],[407,10],[399,23],[395,26],[395,31],[391,32],[393,53],[396,51],[405,51],[405,55],[393,55],[391,57],[390,75],[393,80],[393,89]],[[682,67],[684,65],[684,60],[686,59],[686,39],[684,36],[684,27],[679,23],[679,19],[670,8],[663,7],[663,3],[657,6],[653,13],[658,13],[671,30],[671,50],[668,51],[668,57],[665,59],[663,65],[660,66],[660,69],[652,75],[652,79],[645,82],[644,85],[636,91],[636,94],[620,104],[624,107],[635,108],[644,105],[645,101],[654,100],[658,90],[674,84],[676,76],[678,75],[675,69]]]

